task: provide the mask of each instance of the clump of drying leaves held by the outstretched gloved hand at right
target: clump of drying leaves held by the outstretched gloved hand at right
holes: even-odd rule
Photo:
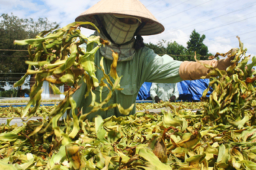
[[[256,56],[252,58],[251,64],[247,64],[250,56],[245,56],[247,49],[243,48],[240,39],[239,47],[239,49],[231,49],[226,54],[216,54],[222,57],[235,57],[234,64],[226,71],[207,66],[212,68],[212,71],[206,78],[212,79],[203,96],[210,87],[214,91],[204,105],[206,121],[210,119],[214,124],[241,126],[249,120],[249,117],[244,115],[244,111],[252,106],[253,99],[256,98],[256,73],[252,71],[253,66],[256,65]],[[241,59],[242,56],[244,59]]]

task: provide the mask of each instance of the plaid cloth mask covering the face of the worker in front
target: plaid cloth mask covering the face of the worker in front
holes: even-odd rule
[[[106,31],[116,44],[124,44],[134,37],[134,33],[139,26],[139,21],[135,24],[122,23],[111,14],[103,15],[103,24]]]

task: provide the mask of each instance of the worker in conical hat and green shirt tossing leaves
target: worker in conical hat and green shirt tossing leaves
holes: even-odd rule
[[[177,83],[183,80],[201,79],[209,72],[209,68],[199,62],[171,60],[169,55],[160,57],[153,50],[145,47],[141,36],[160,34],[164,31],[164,27],[139,0],[101,0],[76,17],[75,21],[94,23],[100,32],[91,25],[81,26],[95,30],[94,35],[111,42],[110,45],[102,45],[95,54],[94,62],[98,67],[102,56],[104,57],[106,74],[110,73],[113,60],[111,50],[119,54],[116,71],[119,77],[122,75],[120,86],[123,90],[114,91],[110,101],[103,107],[118,103],[124,109],[129,108],[136,102],[143,82]],[[201,62],[225,70],[233,64],[232,60],[227,58]],[[98,79],[103,77],[102,71],[96,71],[95,74]],[[89,107],[92,96],[90,94],[84,98],[86,91],[87,86],[82,82],[81,87],[73,94],[77,107],[83,114],[92,109]],[[95,87],[93,93],[99,96],[101,94],[99,87]],[[108,88],[103,87],[102,101],[108,93]],[[99,97],[96,98],[96,102],[100,102]],[[129,114],[134,113],[135,105]],[[96,115],[102,116],[103,119],[123,116],[118,108],[111,108],[107,111],[93,112],[87,118],[93,120]]]

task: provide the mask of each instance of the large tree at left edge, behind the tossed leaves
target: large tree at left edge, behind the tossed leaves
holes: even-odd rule
[[[0,85],[5,86],[5,82],[13,85],[28,67],[25,64],[28,59],[27,45],[14,45],[14,40],[35,38],[41,31],[57,26],[57,23],[51,23],[47,18],[39,18],[38,21],[20,19],[13,14],[2,14],[0,18]]]

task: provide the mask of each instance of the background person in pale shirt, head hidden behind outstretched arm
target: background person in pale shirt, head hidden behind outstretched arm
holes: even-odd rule
[[[150,96],[153,103],[175,102],[175,99],[179,97],[177,83],[152,83]]]

